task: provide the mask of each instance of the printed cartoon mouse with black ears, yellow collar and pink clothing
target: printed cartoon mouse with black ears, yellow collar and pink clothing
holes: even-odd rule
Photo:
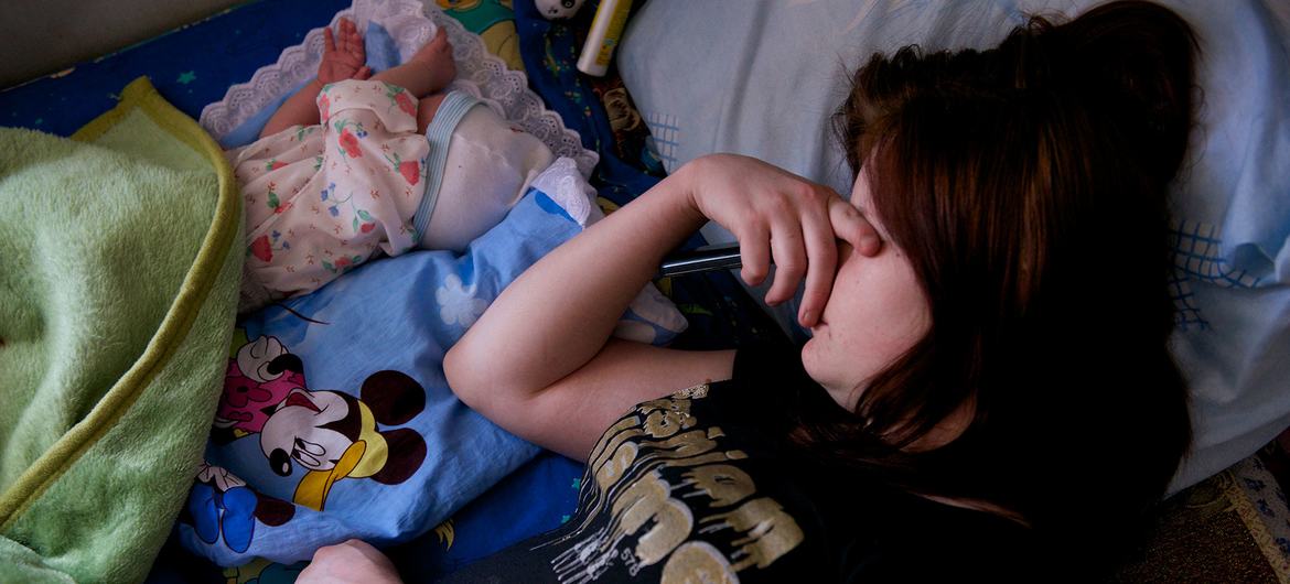
[[[230,358],[212,436],[227,443],[258,434],[276,474],[304,471],[294,503],[322,511],[342,478],[397,485],[421,468],[424,438],[410,428],[388,427],[406,424],[424,406],[426,391],[399,371],[369,375],[359,397],[310,391],[303,361],[279,339],[259,336]]]

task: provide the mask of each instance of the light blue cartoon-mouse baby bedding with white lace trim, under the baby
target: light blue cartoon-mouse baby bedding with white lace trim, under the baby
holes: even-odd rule
[[[335,18],[368,30],[379,70],[432,36],[435,24],[421,10],[412,3],[359,1]],[[538,451],[458,402],[441,362],[510,280],[600,217],[583,178],[595,155],[575,135],[566,142],[571,133],[559,119],[546,126],[553,113],[531,94],[498,89],[497,80],[517,73],[484,71],[477,39],[441,14],[437,26],[449,30],[459,59],[454,88],[521,125],[544,128],[539,138],[566,156],[463,255],[423,250],[375,260],[239,325],[206,462],[178,527],[186,548],[215,563],[257,557],[290,563],[348,538],[378,545],[406,540]],[[254,137],[276,107],[276,95],[264,92],[306,81],[298,75],[316,68],[320,36],[311,32],[253,83],[233,86],[205,110],[206,126],[226,146]],[[472,54],[476,62],[461,62]],[[243,93],[248,88],[254,92]],[[320,209],[330,204],[325,197],[315,201]],[[315,259],[338,267],[348,260]],[[648,287],[619,333],[662,343],[681,327],[675,308]]]

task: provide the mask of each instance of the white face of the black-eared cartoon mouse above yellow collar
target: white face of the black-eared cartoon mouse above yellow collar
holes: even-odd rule
[[[310,471],[329,471],[355,437],[328,428],[350,415],[337,392],[294,388],[277,405],[259,434],[259,447],[279,476],[292,474],[292,460]]]

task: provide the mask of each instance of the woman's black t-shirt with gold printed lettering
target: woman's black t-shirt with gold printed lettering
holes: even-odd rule
[[[640,404],[613,424],[565,525],[449,580],[1027,579],[1026,527],[827,468],[789,446],[786,414],[809,400],[832,404],[793,349],[740,349],[734,379]]]

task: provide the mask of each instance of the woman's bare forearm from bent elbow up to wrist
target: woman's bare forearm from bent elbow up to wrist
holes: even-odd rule
[[[703,226],[679,170],[516,278],[453,347],[457,391],[537,392],[595,357],[663,255]]]

